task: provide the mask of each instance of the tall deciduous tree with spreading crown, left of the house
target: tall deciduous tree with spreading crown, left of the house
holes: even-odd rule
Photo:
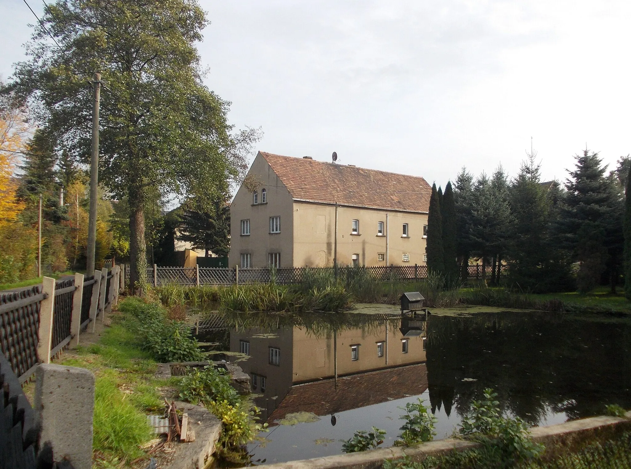
[[[46,8],[11,90],[38,103],[59,151],[88,162],[91,77],[101,72],[100,175],[129,203],[131,286],[144,291],[151,190],[210,203],[237,180],[257,131],[233,132],[229,103],[204,85],[195,43],[208,25],[195,0],[59,0]],[[59,47],[50,45],[47,28]]]

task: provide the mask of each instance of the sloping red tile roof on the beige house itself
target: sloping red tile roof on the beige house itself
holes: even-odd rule
[[[432,188],[420,177],[263,151],[259,154],[296,200],[405,212],[429,210]]]

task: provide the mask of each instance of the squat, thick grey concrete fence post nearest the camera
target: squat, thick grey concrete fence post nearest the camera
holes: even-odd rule
[[[35,419],[40,448],[52,449],[55,462],[91,469],[94,374],[85,368],[41,364],[35,370]]]

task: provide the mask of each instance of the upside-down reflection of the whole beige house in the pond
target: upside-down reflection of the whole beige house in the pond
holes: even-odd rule
[[[411,323],[413,322],[413,323]],[[301,327],[233,328],[230,350],[252,379],[254,402],[270,426],[293,412],[333,415],[427,390],[425,321],[392,317],[369,330],[321,336]],[[332,419],[332,422],[334,420]]]

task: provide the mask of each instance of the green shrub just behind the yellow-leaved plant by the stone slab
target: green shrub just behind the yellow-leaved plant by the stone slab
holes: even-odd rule
[[[226,401],[230,405],[240,402],[235,388],[230,385],[232,379],[225,369],[204,366],[203,369],[189,368],[189,374],[180,381],[180,397],[193,404],[214,401]]]

